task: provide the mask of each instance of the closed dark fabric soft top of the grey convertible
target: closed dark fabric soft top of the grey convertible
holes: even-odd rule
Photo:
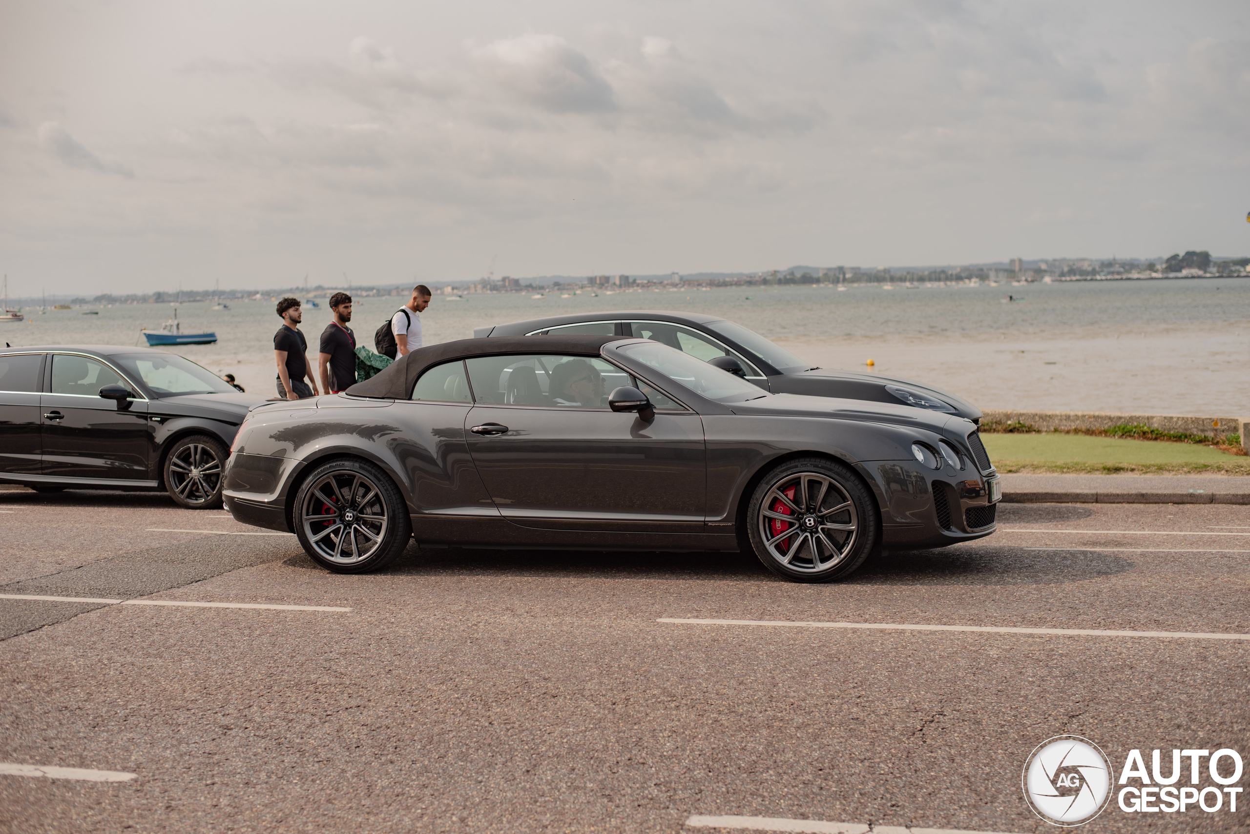
[[[635,341],[621,336],[505,336],[501,338],[461,338],[419,347],[401,356],[394,365],[364,382],[348,388],[352,397],[408,400],[412,395],[416,378],[430,366],[451,360],[500,353],[571,353],[574,356],[599,356],[599,348],[609,342]]]

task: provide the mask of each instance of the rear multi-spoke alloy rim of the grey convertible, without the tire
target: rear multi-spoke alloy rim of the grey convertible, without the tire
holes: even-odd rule
[[[359,472],[321,476],[301,508],[309,546],[335,564],[355,564],[374,556],[386,538],[388,523],[381,491]]]

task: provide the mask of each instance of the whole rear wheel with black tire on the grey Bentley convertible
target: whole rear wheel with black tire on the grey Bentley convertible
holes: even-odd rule
[[[304,552],[335,573],[380,571],[412,538],[408,503],[395,482],[359,458],[316,467],[295,493],[292,512]]]

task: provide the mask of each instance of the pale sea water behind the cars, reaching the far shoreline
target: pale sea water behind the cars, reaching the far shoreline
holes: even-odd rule
[[[845,286],[436,295],[421,323],[432,345],[468,338],[475,327],[562,313],[701,312],[742,323],[814,366],[922,381],[981,408],[1250,412],[1250,278]],[[331,315],[324,293],[316,297],[321,307],[305,307],[301,326],[314,362]],[[212,302],[180,305],[182,332],[214,331],[218,342],[176,352],[270,395],[272,337],[281,326],[275,301],[230,300],[229,310],[212,310]],[[374,331],[402,301],[358,297],[350,325],[358,342],[372,347]],[[84,316],[88,310],[99,315]],[[140,330],[158,328],[172,310],[89,305],[40,313],[28,307],[29,322],[0,326],[0,340],[15,346],[142,346]]]

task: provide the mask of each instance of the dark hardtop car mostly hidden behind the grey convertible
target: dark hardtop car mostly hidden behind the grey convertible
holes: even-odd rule
[[[529,318],[478,327],[474,337],[620,336],[650,338],[744,376],[772,393],[805,393],[870,402],[901,402],[980,422],[981,411],[932,386],[876,373],[812,367],[784,347],[736,322],[701,313],[671,311],[599,312]],[[726,363],[725,357],[732,360]]]

